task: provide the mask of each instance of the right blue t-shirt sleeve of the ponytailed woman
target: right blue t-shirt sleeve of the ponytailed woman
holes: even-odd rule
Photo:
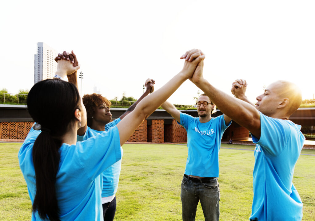
[[[86,174],[94,180],[122,157],[117,127],[114,126],[107,132],[77,142],[76,152]]]

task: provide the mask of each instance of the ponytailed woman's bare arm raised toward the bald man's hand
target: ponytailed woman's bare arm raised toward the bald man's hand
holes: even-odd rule
[[[184,68],[180,73],[175,75],[159,90],[155,91],[150,96],[143,98],[143,100],[136,106],[135,110],[129,113],[117,124],[121,145],[128,140],[130,135],[137,129],[144,119],[161,106],[161,104],[164,103],[185,80],[192,77],[198,63],[205,58],[203,53],[198,49],[190,50],[187,53],[192,59],[190,61],[185,61]]]

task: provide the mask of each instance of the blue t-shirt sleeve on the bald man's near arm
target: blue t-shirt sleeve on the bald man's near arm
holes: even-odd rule
[[[289,125],[284,120],[268,117],[262,113],[260,113],[260,121],[260,139],[252,135],[253,143],[259,144],[266,154],[275,157],[282,152],[289,140]]]

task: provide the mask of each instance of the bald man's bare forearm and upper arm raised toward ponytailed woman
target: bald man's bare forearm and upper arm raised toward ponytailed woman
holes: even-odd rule
[[[203,78],[202,72],[195,71],[191,81],[204,91],[222,113],[232,118],[239,125],[246,127],[258,139],[260,138],[260,113],[253,105],[231,97],[215,88]]]

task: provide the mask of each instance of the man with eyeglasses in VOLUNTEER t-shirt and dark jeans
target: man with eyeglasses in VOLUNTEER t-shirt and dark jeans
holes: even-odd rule
[[[219,151],[222,135],[231,124],[231,118],[225,114],[211,117],[215,113],[215,104],[206,94],[198,97],[196,105],[198,118],[181,113],[167,101],[162,105],[187,131],[188,157],[180,192],[182,218],[183,221],[195,220],[200,201],[205,220],[218,221]]]

